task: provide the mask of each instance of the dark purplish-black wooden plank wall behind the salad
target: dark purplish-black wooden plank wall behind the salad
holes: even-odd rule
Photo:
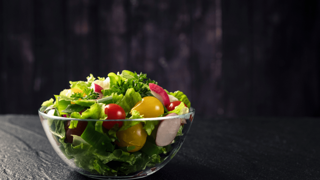
[[[0,0],[0,114],[144,72],[202,116],[319,116],[320,3]]]

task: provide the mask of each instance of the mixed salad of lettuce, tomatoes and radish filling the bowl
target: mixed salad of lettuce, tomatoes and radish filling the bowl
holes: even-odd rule
[[[181,91],[168,92],[147,74],[123,70],[107,78],[90,74],[87,81],[70,81],[69,89],[42,106],[48,115],[70,119],[48,123],[61,152],[78,168],[102,176],[125,176],[168,158],[165,155],[187,123],[183,118],[144,118],[186,114],[190,102]]]

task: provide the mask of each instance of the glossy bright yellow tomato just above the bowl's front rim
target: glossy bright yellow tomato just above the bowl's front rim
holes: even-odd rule
[[[136,110],[140,115],[144,115],[144,118],[156,118],[164,113],[162,103],[153,96],[146,96],[142,98],[142,101],[136,103],[132,110]]]

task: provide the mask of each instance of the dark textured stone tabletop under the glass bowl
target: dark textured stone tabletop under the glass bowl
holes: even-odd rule
[[[142,179],[320,179],[319,118],[202,118]],[[0,179],[91,179],[60,160],[36,115],[0,115]]]

